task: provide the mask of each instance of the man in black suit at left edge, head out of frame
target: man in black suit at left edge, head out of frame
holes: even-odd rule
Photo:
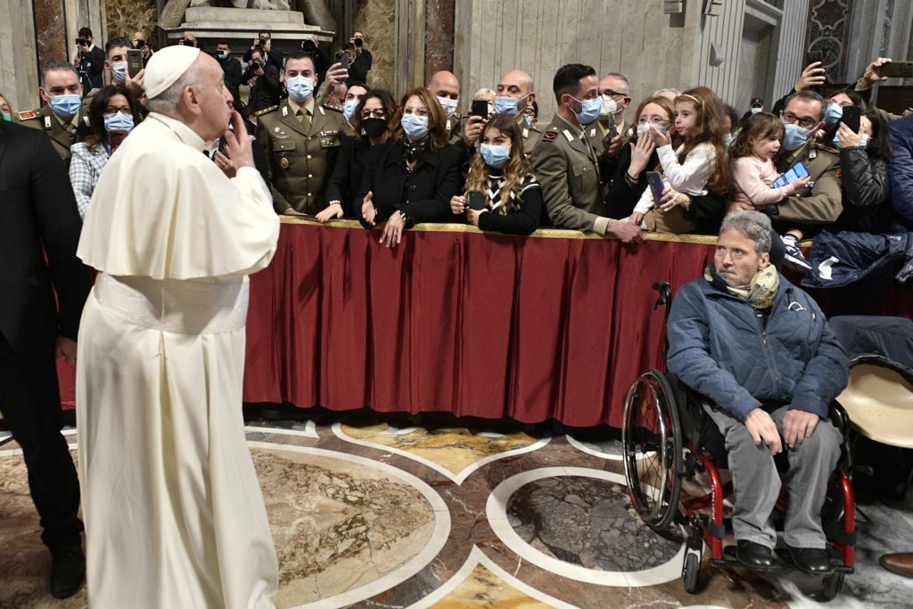
[[[47,137],[0,121],[0,411],[22,448],[28,486],[53,556],[51,593],[82,585],[79,480],[63,425],[55,357],[76,359],[89,269],[67,168]],[[56,295],[56,299],[55,299]]]

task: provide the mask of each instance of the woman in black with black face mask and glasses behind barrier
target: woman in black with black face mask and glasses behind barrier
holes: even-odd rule
[[[373,146],[386,142],[394,128],[396,102],[389,91],[372,89],[364,94],[352,116],[352,130],[358,135],[343,136],[339,155],[327,182],[327,206],[317,214],[320,222],[343,215],[361,217],[362,201],[356,197],[362,188],[364,163]]]

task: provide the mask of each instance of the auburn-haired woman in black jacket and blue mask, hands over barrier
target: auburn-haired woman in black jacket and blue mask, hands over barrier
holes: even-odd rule
[[[458,222],[450,199],[462,191],[464,153],[447,143],[444,110],[425,87],[406,93],[388,142],[374,146],[359,198],[362,225],[386,222],[381,242],[394,247],[406,228],[422,222]]]

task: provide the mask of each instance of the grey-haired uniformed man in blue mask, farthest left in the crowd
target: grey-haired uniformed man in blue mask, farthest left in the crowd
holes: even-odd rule
[[[66,61],[50,61],[41,68],[41,99],[37,110],[16,112],[16,121],[47,132],[54,150],[69,165],[70,147],[82,142],[89,129],[89,100],[82,101],[79,72]]]

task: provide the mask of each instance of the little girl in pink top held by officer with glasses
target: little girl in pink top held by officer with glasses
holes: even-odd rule
[[[757,209],[772,203],[779,203],[808,184],[809,177],[793,181],[780,188],[771,184],[780,177],[773,165],[773,158],[780,152],[783,137],[783,123],[773,114],[753,114],[732,144],[729,158],[732,159],[732,188],[730,199],[743,193]]]

